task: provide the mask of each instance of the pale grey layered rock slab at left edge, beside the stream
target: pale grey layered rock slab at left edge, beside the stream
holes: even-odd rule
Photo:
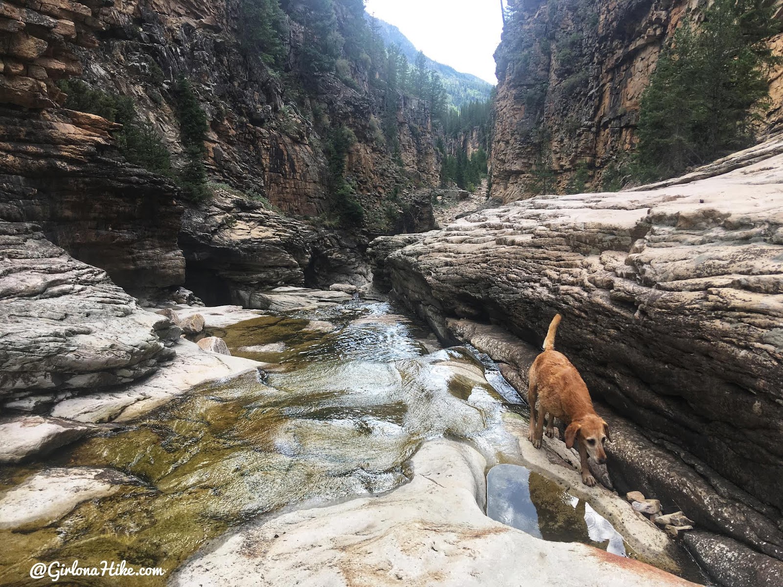
[[[136,307],[103,270],[70,257],[38,227],[0,223],[0,398],[68,394],[153,373],[179,329]]]

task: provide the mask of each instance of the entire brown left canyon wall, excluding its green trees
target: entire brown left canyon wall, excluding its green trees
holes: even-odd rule
[[[184,283],[181,217],[200,204],[184,199],[172,178],[128,164],[117,149],[121,125],[63,108],[67,95],[57,82],[78,78],[107,95],[132,99],[176,169],[186,161],[175,88],[185,77],[208,121],[204,164],[211,185],[265,202],[277,218],[273,225],[285,224],[286,214],[306,221],[330,212],[334,196],[325,133],[345,127],[355,135],[345,156],[345,179],[364,211],[357,238],[345,243],[340,236],[324,236],[314,222],[299,228],[323,243],[302,261],[307,268],[313,258],[324,259],[323,267],[309,269],[318,280],[347,270],[331,269],[332,257],[345,256],[335,243],[360,252],[370,236],[431,228],[426,188],[438,182],[440,156],[428,104],[399,96],[399,149],[391,149],[378,126],[384,92],[370,84],[366,70],[351,66],[340,75],[319,74],[303,97],[301,86],[288,79],[301,68],[303,27],[289,19],[286,63],[282,73],[273,71],[240,46],[239,5],[237,0],[3,2],[0,217],[41,225],[53,243],[105,269],[133,294],[152,295]],[[335,26],[344,20],[338,9]],[[339,232],[334,221],[327,226]],[[190,255],[189,268],[205,269],[199,258]],[[301,282],[301,275],[291,283]],[[259,286],[281,281],[288,283],[270,274]]]

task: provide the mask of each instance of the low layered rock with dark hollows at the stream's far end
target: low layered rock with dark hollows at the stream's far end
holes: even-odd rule
[[[286,218],[222,189],[186,211],[179,243],[187,285],[207,304],[247,306],[255,294],[278,286],[363,285],[371,279],[362,257],[366,239]]]

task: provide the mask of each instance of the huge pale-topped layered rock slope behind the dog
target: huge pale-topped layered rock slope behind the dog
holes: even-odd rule
[[[672,501],[783,560],[781,146],[652,189],[536,196],[379,239],[377,271],[446,340],[456,316],[539,346],[560,312],[557,348],[594,397],[745,513],[727,517],[720,499],[663,474]]]

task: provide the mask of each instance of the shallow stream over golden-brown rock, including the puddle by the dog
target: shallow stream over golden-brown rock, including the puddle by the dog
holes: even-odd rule
[[[137,481],[55,524],[0,531],[0,584],[34,585],[27,577],[34,562],[78,559],[168,572],[73,585],[164,585],[205,542],[251,517],[406,483],[406,462],[430,438],[469,441],[489,466],[515,452],[516,439],[500,425],[504,405],[519,401],[513,387],[470,349],[431,353],[429,332],[388,303],[261,316],[213,334],[264,369],[206,384],[47,463],[2,470],[0,492],[47,467],[111,467]],[[520,481],[517,473],[493,470],[490,515],[494,509],[496,519],[543,538],[624,552],[602,518],[604,534],[590,531],[589,506],[543,477]]]

